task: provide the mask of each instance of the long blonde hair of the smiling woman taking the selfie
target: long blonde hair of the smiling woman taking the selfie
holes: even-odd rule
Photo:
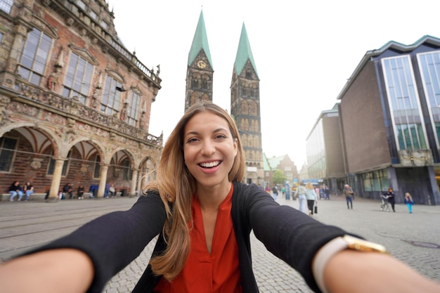
[[[240,136],[231,115],[209,101],[191,106],[164,145],[160,162],[155,169],[156,180],[148,183],[144,188],[144,190],[157,190],[160,193],[167,212],[162,230],[167,249],[150,260],[153,273],[163,275],[167,280],[173,280],[179,275],[190,253],[189,230],[193,223],[191,203],[196,192],[196,182],[184,163],[183,136],[188,121],[200,112],[212,112],[224,118],[228,122],[233,138],[237,139],[238,152],[229,171],[229,181],[240,182],[245,172]]]

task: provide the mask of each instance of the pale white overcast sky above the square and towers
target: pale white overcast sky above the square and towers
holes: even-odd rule
[[[119,38],[148,68],[160,64],[162,89],[150,134],[167,138],[183,115],[188,53],[200,11],[214,66],[213,101],[230,110],[242,23],[260,79],[261,134],[267,157],[306,162],[306,138],[367,51],[440,37],[439,0],[108,0]]]

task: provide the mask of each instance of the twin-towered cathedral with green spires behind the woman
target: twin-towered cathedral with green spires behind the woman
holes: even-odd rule
[[[202,11],[188,54],[185,110],[200,100],[213,101],[213,79],[214,68]],[[233,64],[231,115],[238,126],[245,153],[246,169],[243,181],[264,185],[259,77],[244,23]]]

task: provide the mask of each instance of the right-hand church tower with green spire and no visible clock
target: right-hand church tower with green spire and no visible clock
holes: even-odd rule
[[[259,77],[245,23],[242,25],[232,74],[231,115],[235,118],[245,152],[246,170],[243,181],[263,185]]]

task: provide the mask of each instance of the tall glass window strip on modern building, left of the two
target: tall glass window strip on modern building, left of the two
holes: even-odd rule
[[[384,58],[382,67],[399,150],[426,149],[425,122],[410,57]]]

